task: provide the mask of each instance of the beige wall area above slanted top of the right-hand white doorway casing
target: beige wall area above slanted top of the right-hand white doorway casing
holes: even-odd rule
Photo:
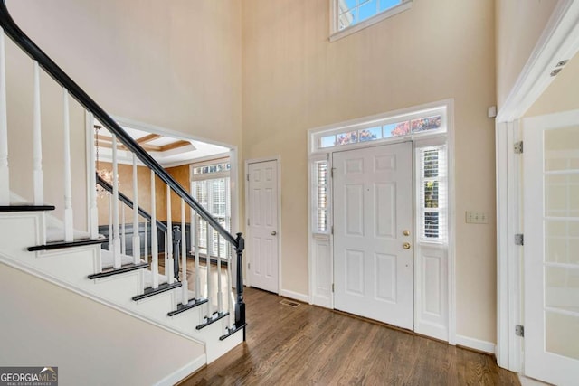
[[[558,0],[496,0],[497,103],[500,109]]]

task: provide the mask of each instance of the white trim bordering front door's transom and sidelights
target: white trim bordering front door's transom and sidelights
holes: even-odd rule
[[[446,119],[446,131],[441,132],[439,130],[432,130],[435,133],[428,133],[424,132],[421,134],[403,136],[403,137],[390,137],[386,138],[385,140],[376,140],[376,141],[368,141],[356,144],[349,144],[345,146],[334,146],[334,147],[327,147],[318,149],[318,137],[335,133],[335,132],[342,132],[345,131],[346,127],[354,128],[364,128],[364,127],[371,127],[373,123],[378,121],[383,121],[384,119],[395,119],[395,118],[406,118],[406,117],[414,117],[414,116],[422,116],[428,117],[428,114],[432,112],[441,111],[441,109],[446,109],[445,119]],[[417,117],[418,118],[418,117]],[[387,144],[395,144],[400,142],[405,142],[408,140],[413,140],[414,147],[419,146],[431,146],[437,145],[441,143],[446,143],[447,146],[447,235],[448,240],[446,243],[422,243],[424,247],[428,247],[430,249],[439,249],[446,253],[446,273],[447,273],[447,287],[446,287],[446,300],[447,300],[447,309],[446,309],[446,325],[432,325],[428,324],[427,322],[419,325],[421,319],[416,316],[418,313],[419,307],[416,305],[417,296],[419,296],[419,291],[422,288],[416,287],[418,286],[417,280],[414,281],[414,331],[419,334],[425,334],[428,336],[433,336],[437,339],[448,341],[449,344],[457,344],[457,333],[456,333],[456,261],[455,261],[455,248],[456,248],[456,240],[455,240],[455,230],[456,230],[456,209],[455,209],[455,186],[454,186],[454,100],[453,99],[444,99],[420,106],[414,106],[411,108],[403,108],[399,110],[390,111],[383,114],[377,114],[375,116],[365,117],[365,118],[356,118],[346,122],[341,122],[333,125],[327,125],[325,127],[317,127],[308,130],[308,212],[311,213],[314,210],[313,200],[315,199],[316,195],[313,191],[313,184],[312,178],[314,178],[314,170],[312,168],[312,164],[315,161],[328,159],[329,167],[331,168],[331,153],[335,151],[343,151],[343,150],[350,150],[354,148],[364,148],[364,147],[371,147],[371,146],[382,146]],[[415,157],[415,155],[413,155]],[[330,184],[331,185],[331,184]],[[414,191],[416,188],[414,187]],[[331,195],[331,193],[329,193]],[[414,202],[414,200],[413,200]],[[332,202],[329,200],[328,204],[328,224],[331,227],[333,220],[331,216],[333,215],[332,210]],[[414,221],[416,221],[416,215],[413,216]],[[334,236],[331,234],[323,234],[313,232],[314,230],[314,223],[312,222],[314,217],[312,215],[309,216],[308,221],[308,272],[309,272],[309,303],[315,304],[317,306],[325,306],[328,308],[333,308],[334,306],[334,297],[330,294],[328,297],[323,296],[320,294],[315,293],[314,288],[318,286],[317,283],[317,269],[318,269],[318,261],[316,255],[316,249],[318,246],[318,241],[327,241],[329,243],[330,255],[332,256],[329,263],[329,278],[333,282],[333,239]],[[414,224],[414,229],[416,230],[416,224]],[[414,232],[414,237],[416,237],[416,232]],[[421,244],[418,243],[418,240],[415,241],[416,248],[420,249]],[[416,257],[414,258],[416,259]],[[419,269],[415,264],[414,270]],[[416,276],[416,272],[414,273]],[[418,299],[420,300],[420,299]],[[441,332],[441,328],[446,330],[445,332]],[[461,343],[465,346],[472,346],[470,342],[464,341]]]

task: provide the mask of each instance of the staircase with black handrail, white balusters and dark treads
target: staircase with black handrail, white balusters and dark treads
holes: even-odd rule
[[[134,317],[131,323],[154,325],[174,335],[172,339],[185,340],[198,348],[192,351],[196,356],[190,358],[188,362],[193,364],[189,364],[186,371],[176,361],[173,367],[170,364],[166,365],[166,376],[162,379],[152,379],[150,383],[172,384],[188,372],[193,372],[204,364],[213,362],[223,353],[241,344],[245,338],[246,327],[242,271],[237,270],[233,282],[231,269],[233,262],[236,263],[236,267],[242,267],[244,249],[242,234],[238,233],[236,237],[233,237],[226,231],[219,221],[216,221],[181,185],[177,184],[151,155],[148,155],[135,140],[129,137],[116,121],[109,117],[109,114],[90,99],[36,46],[14,24],[4,0],[0,0],[0,26],[2,27],[0,31],[0,273],[9,275],[12,272],[11,269],[25,272],[28,275],[26,280],[32,283],[32,286],[40,283],[37,282],[38,280],[50,282],[70,291],[72,297],[85,297],[100,305],[111,307]],[[26,176],[33,180],[33,190],[30,192],[14,193],[10,187],[11,178],[13,181],[15,178],[14,175],[11,176],[11,172],[18,170],[18,178],[23,176],[20,175],[20,168],[9,168],[8,138],[14,134],[15,130],[28,128],[8,127],[7,116],[12,111],[6,106],[6,80],[9,74],[6,74],[5,68],[5,37],[11,39],[33,61],[33,107],[30,111],[33,116],[33,127],[29,128],[32,132],[33,144],[26,147],[31,148],[30,156],[33,159],[32,175]],[[64,117],[62,165],[43,165],[42,163],[41,71],[48,73],[52,80],[62,87]],[[96,174],[95,155],[91,151],[90,154],[85,155],[90,162],[87,175],[83,176],[83,180],[88,180],[94,189],[90,189],[88,197],[75,197],[74,202],[82,202],[78,210],[82,211],[86,208],[88,212],[89,221],[86,231],[77,230],[81,227],[73,223],[74,211],[77,208],[72,205],[71,192],[77,176],[72,175],[71,165],[75,162],[84,162],[86,158],[71,159],[71,130],[84,129],[71,127],[69,107],[71,101],[78,102],[86,110],[90,127],[93,126],[94,119],[98,119],[113,137],[112,184],[106,183]],[[129,188],[130,192],[119,191],[117,142],[133,154],[133,186]],[[137,165],[145,165],[150,171],[150,207],[152,208],[150,214],[143,210],[142,204],[139,205],[138,202]],[[52,167],[62,170],[64,180],[62,187],[44,183],[43,174]],[[166,191],[166,224],[157,221],[156,218],[158,180],[164,184]],[[99,234],[97,184],[109,197],[108,237]],[[63,202],[55,202],[54,205],[45,203],[44,196],[47,189],[60,189],[64,197]],[[132,200],[128,198],[127,193],[133,194]],[[22,196],[33,199],[26,200]],[[174,196],[177,196],[181,202],[181,219],[178,223],[171,220],[170,202],[171,197]],[[59,207],[63,209],[62,219],[54,214],[55,209]],[[141,236],[136,231],[130,240],[132,246],[130,249],[127,248],[128,241],[125,235],[124,213],[126,209],[131,213],[133,229],[141,229],[144,225],[146,237],[147,230],[150,229],[150,239],[145,240],[144,243],[141,242]],[[185,212],[189,214],[189,224],[185,224]],[[123,214],[122,221],[119,213]],[[207,246],[205,262],[201,261],[199,223],[204,224],[203,228],[206,229],[207,236],[209,232],[213,232],[212,238],[227,241],[228,248],[223,256],[220,248],[211,250]],[[186,225],[190,225],[188,231]],[[190,250],[186,249],[185,240],[191,240]],[[159,253],[161,244],[165,245],[164,253]],[[216,264],[211,262],[210,257],[213,256]],[[195,261],[195,270],[192,275],[187,272],[187,261],[190,264]],[[160,272],[160,266],[165,267],[164,273]],[[233,285],[236,288],[234,292]],[[10,295],[18,297],[19,292],[16,289]],[[43,294],[38,294],[38,297],[42,298]],[[45,300],[54,305],[58,305],[61,301],[59,298]],[[23,298],[22,301],[27,302],[29,299]],[[9,311],[3,310],[3,312]],[[18,318],[14,317],[14,324],[17,325]],[[67,315],[59,315],[59,317],[66,318]],[[24,319],[22,322],[25,322]],[[43,321],[38,320],[37,324],[43,325]],[[14,332],[8,331],[5,334],[19,333],[16,330],[17,328],[14,328]],[[91,334],[91,331],[87,331],[86,334]],[[66,339],[66,336],[62,336],[62,340]],[[110,342],[111,346],[118,344],[122,342]],[[128,348],[128,352],[136,356],[141,350],[142,347]],[[147,350],[151,350],[152,356],[155,355],[155,347],[147,347]],[[110,355],[114,356],[115,350],[112,350]],[[10,356],[0,355],[0,365],[58,365],[58,363],[22,362],[25,360],[22,358],[19,363],[5,362],[10,359]],[[66,360],[69,359],[66,358]],[[122,362],[121,358],[119,361]],[[102,369],[103,363],[109,362],[100,362],[99,370],[106,372],[108,369]],[[81,367],[76,370],[78,372],[92,372],[96,368],[95,363],[87,362],[78,365]],[[63,369],[62,372],[65,370]],[[131,380],[130,375],[127,379]]]

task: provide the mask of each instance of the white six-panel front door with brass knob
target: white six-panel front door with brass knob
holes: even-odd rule
[[[413,329],[412,143],[333,154],[334,306]]]

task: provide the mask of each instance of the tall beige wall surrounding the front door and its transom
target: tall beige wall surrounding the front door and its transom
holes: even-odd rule
[[[283,289],[308,294],[307,130],[455,99],[458,334],[496,339],[495,10],[415,1],[328,42],[327,0],[244,0],[243,155],[280,155]],[[467,210],[489,224],[467,225]]]

